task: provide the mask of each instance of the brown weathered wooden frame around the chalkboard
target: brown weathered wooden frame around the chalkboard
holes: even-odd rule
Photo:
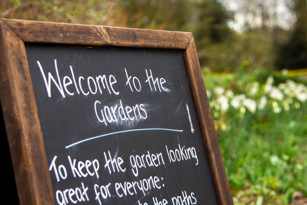
[[[10,19],[0,26],[0,97],[21,204],[55,204],[25,44],[183,50],[217,198],[233,204],[191,33]]]

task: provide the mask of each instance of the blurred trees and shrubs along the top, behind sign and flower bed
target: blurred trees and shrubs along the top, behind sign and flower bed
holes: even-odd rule
[[[304,0],[293,1],[291,9],[297,16],[297,22],[295,29],[288,32],[279,27],[265,26],[263,22],[266,19],[262,19],[262,27],[246,26],[243,33],[236,33],[228,26],[228,22],[234,20],[234,13],[228,11],[222,2],[220,0],[4,0],[0,1],[0,18],[192,32],[200,64],[215,72],[235,71],[242,61],[248,61],[250,65],[258,68],[307,67]],[[255,8],[251,9],[255,12],[261,9],[263,14],[269,11],[265,5],[270,4],[259,2],[258,5],[257,2],[239,1],[236,4],[239,6],[242,4],[242,8],[254,6]],[[248,11],[241,12],[248,14]],[[252,15],[255,16],[256,13]]]

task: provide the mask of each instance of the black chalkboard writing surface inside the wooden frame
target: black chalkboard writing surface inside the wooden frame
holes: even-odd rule
[[[182,51],[26,53],[57,203],[218,204]]]

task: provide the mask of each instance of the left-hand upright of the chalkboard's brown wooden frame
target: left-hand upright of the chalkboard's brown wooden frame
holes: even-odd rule
[[[0,96],[19,201],[54,204],[24,42],[2,20],[0,25]]]

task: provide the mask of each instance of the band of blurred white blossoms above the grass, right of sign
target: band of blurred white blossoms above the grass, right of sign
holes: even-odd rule
[[[231,89],[225,90],[220,86],[215,87],[213,92],[207,90],[208,97],[212,97],[210,104],[216,110],[214,116],[219,116],[221,112],[227,112],[229,106],[241,114],[245,114],[246,109],[254,114],[257,110],[260,111],[266,107],[271,108],[274,113],[280,113],[282,110],[290,111],[292,105],[299,109],[300,103],[307,101],[307,87],[305,85],[292,80],[287,80],[278,86],[273,83],[273,77],[269,76],[263,87],[258,81],[250,82],[240,90],[240,93],[234,93]]]

